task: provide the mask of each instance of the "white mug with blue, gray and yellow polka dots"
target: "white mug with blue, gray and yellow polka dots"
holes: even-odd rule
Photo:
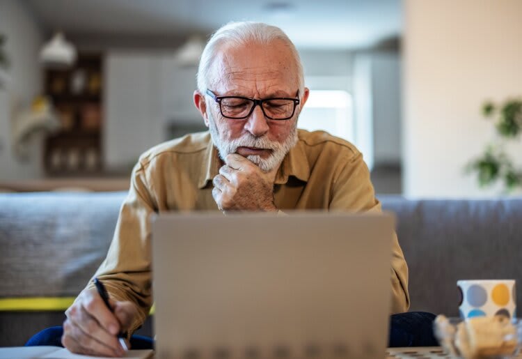
[[[504,315],[516,318],[514,280],[459,280],[462,319],[474,316]]]

